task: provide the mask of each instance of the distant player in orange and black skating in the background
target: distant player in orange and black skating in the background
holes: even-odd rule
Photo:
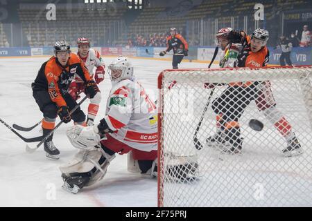
[[[159,56],[166,55],[166,52],[173,50],[173,61],[172,68],[177,69],[177,65],[181,63],[184,56],[188,55],[189,52],[189,44],[185,41],[182,35],[177,34],[177,30],[175,28],[170,29],[170,36],[167,37],[167,48],[166,50],[159,53]]]

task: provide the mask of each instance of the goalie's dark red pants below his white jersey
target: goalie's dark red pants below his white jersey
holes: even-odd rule
[[[123,144],[123,142],[116,140],[109,134],[106,134],[106,137],[107,140],[102,140],[101,144],[115,153],[124,154],[132,151],[134,160],[155,160],[157,158],[157,151],[140,151],[136,148],[128,146],[127,144]]]

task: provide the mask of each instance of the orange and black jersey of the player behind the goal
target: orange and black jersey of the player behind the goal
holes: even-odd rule
[[[268,64],[270,53],[264,46],[258,52],[252,52],[250,49],[250,36],[246,37],[246,46],[237,57],[237,67],[260,68]]]

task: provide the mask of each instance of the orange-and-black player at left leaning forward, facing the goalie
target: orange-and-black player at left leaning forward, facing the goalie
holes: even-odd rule
[[[42,64],[35,81],[31,84],[33,97],[44,115],[42,119],[44,136],[53,130],[57,115],[64,123],[70,122],[71,119],[76,124],[85,123],[85,114],[79,107],[71,115],[69,114],[69,111],[77,105],[68,93],[74,75],[78,75],[83,80],[88,97],[91,99],[95,97],[98,87],[90,78],[83,61],[71,53],[67,41],[56,41],[54,56]],[[52,137],[53,134],[44,142],[44,151],[46,157],[58,160],[60,151],[54,146]]]

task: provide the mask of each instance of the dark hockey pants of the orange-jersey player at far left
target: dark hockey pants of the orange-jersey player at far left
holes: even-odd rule
[[[44,117],[48,117],[49,119],[55,119],[58,113],[58,106],[52,102],[48,91],[45,90],[36,90],[33,91],[33,97],[35,98],[36,103],[38,104],[40,111],[43,113]],[[76,105],[77,102],[73,100],[69,93],[63,95],[63,98],[69,107],[69,111],[71,111]],[[80,107],[76,109],[71,115],[71,119],[74,122],[84,122],[85,121],[85,113],[81,111]]]

